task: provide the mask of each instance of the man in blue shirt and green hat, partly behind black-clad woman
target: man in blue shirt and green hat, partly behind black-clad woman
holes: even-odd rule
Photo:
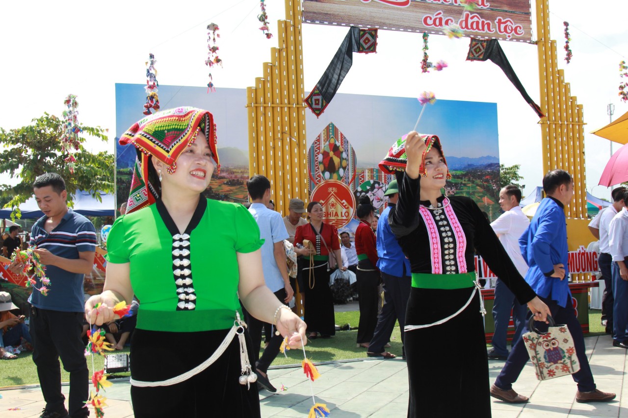
[[[377,268],[381,272],[384,282],[384,307],[377,319],[377,326],[369,343],[368,356],[384,356],[394,358],[394,355],[384,350],[390,341],[395,321],[399,321],[401,343],[403,344],[403,327],[406,324],[406,306],[410,296],[410,262],[403,254],[397,238],[395,238],[388,217],[399,199],[397,181],[393,180],[386,188],[384,196],[388,196],[388,207],[384,209],[377,223]],[[404,354],[405,358],[406,355]]]

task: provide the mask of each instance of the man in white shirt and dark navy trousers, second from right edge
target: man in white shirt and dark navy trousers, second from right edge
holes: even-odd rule
[[[609,230],[610,221],[613,220],[617,212],[624,207],[624,192],[625,187],[615,188],[611,192],[613,198],[613,204],[600,211],[600,222],[598,225],[599,233],[598,239],[600,240],[600,254],[597,257],[598,265],[600,265],[600,272],[602,272],[602,278],[604,279],[605,289],[602,295],[602,324],[606,327],[606,333],[613,333],[613,305],[614,305],[614,293],[613,293],[613,279],[612,279],[612,257],[610,255],[609,244]],[[594,218],[595,220],[595,218]],[[593,223],[593,221],[591,222]],[[589,229],[591,229],[591,223],[589,223]]]

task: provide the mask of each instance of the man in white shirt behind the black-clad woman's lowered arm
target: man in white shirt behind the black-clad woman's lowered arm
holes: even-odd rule
[[[521,202],[521,190],[517,186],[508,185],[499,191],[499,206],[504,213],[501,217],[495,219],[490,226],[493,228],[499,241],[506,249],[511,257],[512,263],[519,271],[522,277],[528,272],[528,264],[521,255],[519,249],[519,237],[524,233],[530,221],[524,215],[519,206]],[[493,305],[493,318],[495,320],[495,331],[493,333],[492,345],[488,352],[489,359],[506,360],[508,358],[508,349],[506,348],[506,337],[508,331],[508,323],[511,318],[514,321],[515,333],[512,336],[514,343],[519,339],[521,331],[526,323],[526,313],[528,311],[526,305],[519,304],[514,294],[508,287],[497,279],[495,284],[495,301]]]

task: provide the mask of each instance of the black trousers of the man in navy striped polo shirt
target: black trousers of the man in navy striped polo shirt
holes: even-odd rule
[[[85,401],[89,397],[89,370],[85,361],[85,346],[80,338],[83,330],[82,312],[61,312],[31,306],[30,333],[33,338],[33,362],[37,367],[41,394],[46,410],[65,410],[61,393],[61,369],[70,373],[68,409],[73,418],[87,417]]]

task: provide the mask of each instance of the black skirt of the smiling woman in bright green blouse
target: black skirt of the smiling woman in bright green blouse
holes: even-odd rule
[[[155,382],[187,372],[204,362],[229,330],[175,333],[136,328],[131,338],[131,377]],[[251,339],[244,333],[251,356]],[[167,341],[185,341],[175,351]],[[234,338],[227,350],[198,375],[161,387],[131,386],[136,418],[259,418],[257,384],[241,385],[240,344]],[[251,362],[255,370],[254,362]]]

